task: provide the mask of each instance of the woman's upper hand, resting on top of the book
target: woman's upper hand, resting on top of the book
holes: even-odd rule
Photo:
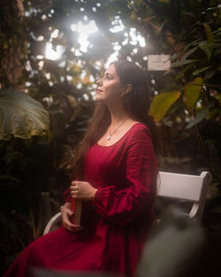
[[[88,181],[72,181],[70,187],[72,198],[89,201],[95,197],[96,190]]]

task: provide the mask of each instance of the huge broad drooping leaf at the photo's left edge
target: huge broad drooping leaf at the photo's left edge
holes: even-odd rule
[[[1,140],[10,140],[11,135],[22,139],[44,135],[49,127],[49,113],[41,103],[22,91],[0,90]]]

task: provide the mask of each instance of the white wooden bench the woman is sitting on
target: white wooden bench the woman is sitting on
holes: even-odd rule
[[[179,173],[159,172],[157,181],[157,197],[188,201],[193,203],[187,213],[190,219],[202,219],[211,174],[202,172],[200,176]],[[61,225],[61,212],[58,212],[44,229],[43,235],[50,233]]]

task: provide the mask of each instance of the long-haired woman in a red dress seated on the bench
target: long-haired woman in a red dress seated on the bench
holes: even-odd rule
[[[97,81],[95,114],[80,144],[78,180],[65,191],[64,227],[31,243],[4,277],[32,267],[134,276],[155,220],[155,125],[146,74],[118,61]],[[152,143],[153,142],[153,143]],[[71,199],[81,200],[80,227]]]

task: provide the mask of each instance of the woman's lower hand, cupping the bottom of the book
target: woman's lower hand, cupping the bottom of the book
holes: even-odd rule
[[[63,206],[61,206],[60,211],[61,211],[63,226],[65,227],[65,229],[71,232],[78,232],[82,230],[82,227],[80,227],[79,225],[74,225],[71,222],[73,212],[71,211],[70,202],[66,202]]]

